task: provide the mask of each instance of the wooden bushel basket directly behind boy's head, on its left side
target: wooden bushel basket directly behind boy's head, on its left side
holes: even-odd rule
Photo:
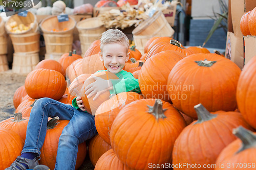
[[[101,34],[106,31],[103,22],[98,18],[87,18],[77,22],[76,28],[79,32],[82,56],[86,53],[91,43],[99,40]]]

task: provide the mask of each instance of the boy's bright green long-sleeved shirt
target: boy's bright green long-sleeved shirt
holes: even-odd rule
[[[99,71],[106,71],[106,70],[99,70]],[[97,72],[99,72],[97,71]],[[121,70],[117,74],[115,74],[119,79],[117,80],[111,80],[113,84],[113,90],[110,90],[111,94],[118,94],[120,92],[125,91],[133,91],[140,93],[140,87],[139,87],[139,80],[135,79],[133,77],[133,74],[131,72],[127,72],[125,70]],[[72,101],[72,106],[76,109],[80,109],[77,106],[76,98]]]

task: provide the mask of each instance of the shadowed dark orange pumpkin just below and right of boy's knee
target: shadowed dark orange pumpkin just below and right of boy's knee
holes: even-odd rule
[[[94,136],[89,143],[89,156],[93,166],[106,151],[111,149],[111,145],[106,143],[100,135]]]

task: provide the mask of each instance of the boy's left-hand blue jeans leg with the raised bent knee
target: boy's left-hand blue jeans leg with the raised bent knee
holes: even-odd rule
[[[41,98],[31,109],[27,135],[22,153],[40,153],[46,136],[48,117],[58,116],[59,119],[70,120],[74,115],[74,107],[50,98]]]

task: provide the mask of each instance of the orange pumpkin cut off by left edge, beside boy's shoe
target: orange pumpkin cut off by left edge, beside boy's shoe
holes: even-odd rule
[[[0,169],[5,169],[21,154],[24,142],[12,130],[0,128],[0,145]]]

